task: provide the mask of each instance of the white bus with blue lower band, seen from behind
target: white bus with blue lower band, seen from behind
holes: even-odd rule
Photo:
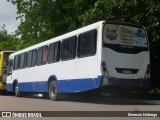
[[[148,87],[149,66],[144,27],[99,21],[11,54],[7,91],[58,100],[102,86]]]

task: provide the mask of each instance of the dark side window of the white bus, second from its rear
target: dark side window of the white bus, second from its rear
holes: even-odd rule
[[[76,56],[76,36],[65,39],[61,45],[61,59],[70,60]]]

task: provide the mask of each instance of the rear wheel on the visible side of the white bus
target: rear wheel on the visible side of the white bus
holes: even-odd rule
[[[55,81],[49,84],[49,98],[53,101],[58,100],[59,94],[57,92],[57,85]]]

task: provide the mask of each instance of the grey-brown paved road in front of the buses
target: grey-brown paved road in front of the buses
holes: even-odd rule
[[[112,98],[103,95],[91,95],[88,99],[73,95],[62,101],[51,101],[43,99],[42,97],[17,98],[11,95],[1,95],[0,111],[160,111],[160,101]],[[59,120],[60,117],[56,119]],[[66,119],[72,120],[72,118]],[[91,117],[87,118],[87,120],[90,119]],[[92,118],[92,120],[93,119],[97,118]],[[103,117],[98,119],[106,120],[106,118]],[[113,117],[111,119],[113,119]],[[123,120],[127,119],[128,118],[124,118]],[[143,118],[141,119],[143,120]],[[159,118],[154,119],[158,120]],[[5,120],[5,118],[0,118],[0,120]]]

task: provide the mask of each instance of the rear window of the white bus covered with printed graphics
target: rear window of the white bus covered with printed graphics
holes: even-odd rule
[[[147,48],[147,35],[143,28],[107,23],[103,29],[103,43]]]

